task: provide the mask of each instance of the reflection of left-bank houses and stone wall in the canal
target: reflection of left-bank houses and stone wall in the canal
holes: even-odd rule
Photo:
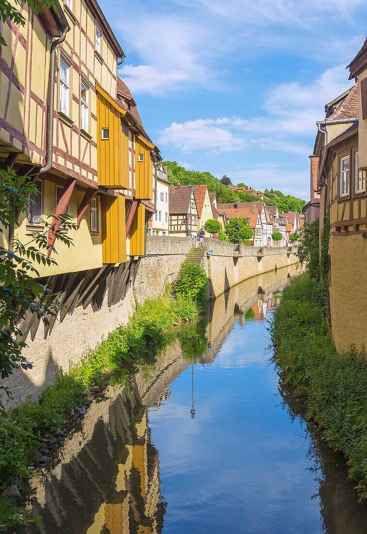
[[[32,514],[42,534],[160,533],[166,503],[160,491],[159,452],[151,443],[149,409],[160,410],[174,391],[171,383],[193,363],[210,365],[236,321],[263,321],[274,292],[296,274],[295,266],[246,280],[208,303],[207,317],[178,331],[178,337],[132,379],[128,391],[118,383],[93,402],[79,428],[69,435],[49,470],[32,479]],[[245,333],[246,335],[246,333]]]

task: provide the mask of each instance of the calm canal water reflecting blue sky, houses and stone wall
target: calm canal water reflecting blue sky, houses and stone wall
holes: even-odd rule
[[[270,362],[268,320],[296,274],[232,288],[125,386],[92,403],[30,506],[46,534],[367,531],[343,458]]]

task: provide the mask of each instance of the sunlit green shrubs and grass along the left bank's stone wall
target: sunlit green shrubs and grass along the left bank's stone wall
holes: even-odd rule
[[[42,437],[57,433],[70,412],[81,406],[85,389],[102,383],[108,373],[121,370],[121,364],[133,368],[131,375],[146,362],[153,362],[157,350],[171,339],[170,328],[198,313],[198,305],[190,297],[147,300],[137,305],[128,324],[108,334],[67,373],[61,372],[56,383],[42,392],[39,404],[28,400],[1,419],[0,493],[9,484],[21,486],[32,474],[45,446]],[[15,521],[12,515],[10,501],[0,499],[0,531],[11,527]]]

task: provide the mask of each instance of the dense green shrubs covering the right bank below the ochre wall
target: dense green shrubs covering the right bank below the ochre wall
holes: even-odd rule
[[[367,498],[367,360],[353,347],[338,353],[323,310],[315,305],[309,273],[292,280],[271,326],[280,378],[307,407],[334,450],[348,460],[349,477]]]

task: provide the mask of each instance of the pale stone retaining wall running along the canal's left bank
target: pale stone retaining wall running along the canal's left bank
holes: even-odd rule
[[[80,305],[62,323],[57,321],[46,339],[44,328],[38,327],[34,341],[28,336],[29,346],[24,350],[33,369],[17,371],[3,381],[14,394],[14,404],[23,402],[27,396],[36,399],[45,387],[54,383],[60,367],[67,371],[71,362],[77,362],[103,336],[126,324],[134,313],[136,301],[143,304],[146,299],[159,297],[165,285],[177,278],[192,245],[192,240],[183,237],[146,236],[146,255],[140,261],[134,287],[129,286],[123,300],[109,306],[106,293],[98,309],[91,304],[85,309]],[[209,238],[205,239],[204,247],[213,250],[212,255],[205,254],[202,263],[209,278],[208,299],[214,299],[242,280],[297,262],[295,252],[288,252],[286,247],[263,249],[261,256],[256,247],[238,247]]]

